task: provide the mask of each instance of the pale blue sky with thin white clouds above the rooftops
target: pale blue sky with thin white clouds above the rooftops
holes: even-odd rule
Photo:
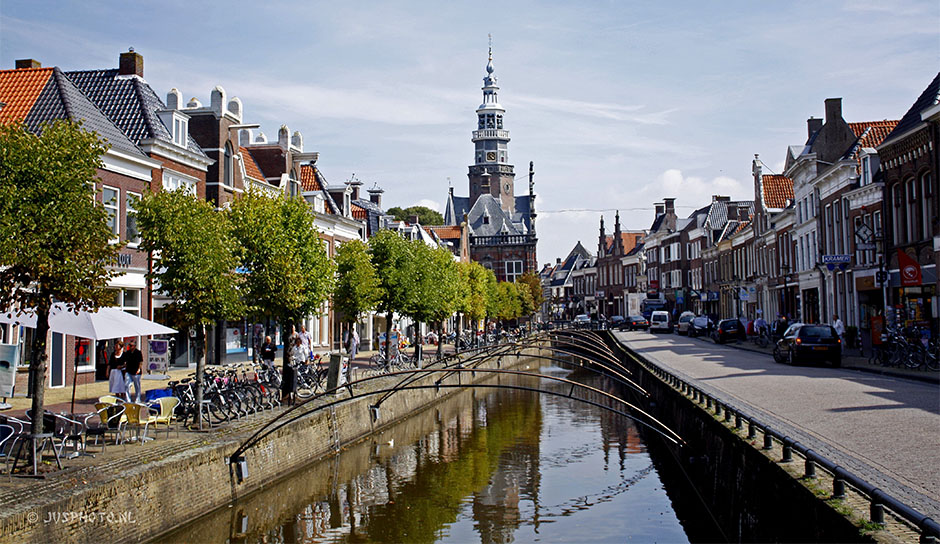
[[[711,195],[753,198],[751,161],[781,173],[806,119],[900,119],[940,69],[940,2],[36,2],[0,0],[0,68],[117,67],[202,103],[221,85],[269,140],[287,125],[330,184],[443,212],[469,193],[488,35],[516,192],[535,165],[541,263],[599,219],[648,228]]]

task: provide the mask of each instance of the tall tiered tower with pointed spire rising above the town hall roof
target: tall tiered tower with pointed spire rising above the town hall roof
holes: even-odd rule
[[[483,103],[477,108],[477,129],[473,131],[474,160],[470,166],[470,206],[480,195],[490,194],[500,207],[515,207],[515,173],[509,163],[509,131],[503,128],[506,110],[499,105],[496,76],[493,74],[493,46],[489,49],[486,76],[483,77]]]

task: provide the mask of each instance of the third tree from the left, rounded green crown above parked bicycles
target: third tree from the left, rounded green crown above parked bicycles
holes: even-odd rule
[[[301,197],[269,196],[251,190],[228,211],[237,257],[245,271],[244,297],[253,317],[271,317],[285,337],[330,295],[333,263]],[[284,349],[284,363],[289,359]]]

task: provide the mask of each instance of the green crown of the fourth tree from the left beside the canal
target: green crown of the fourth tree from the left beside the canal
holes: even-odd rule
[[[336,287],[333,308],[351,322],[375,309],[382,298],[382,284],[369,258],[369,246],[352,240],[336,250]]]

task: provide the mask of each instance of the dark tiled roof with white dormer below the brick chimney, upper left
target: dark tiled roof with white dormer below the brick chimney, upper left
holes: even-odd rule
[[[173,143],[173,134],[157,116],[158,111],[167,109],[166,104],[143,79],[122,76],[117,68],[65,75],[134,143],[151,138]],[[188,151],[208,158],[192,136],[186,137]]]

